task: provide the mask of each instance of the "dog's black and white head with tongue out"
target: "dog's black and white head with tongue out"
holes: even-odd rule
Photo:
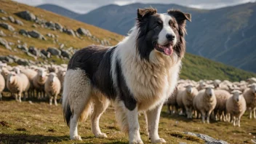
[[[137,9],[137,51],[148,60],[152,50],[180,58],[185,54],[185,23],[191,15],[179,10],[168,10],[159,14],[156,9]]]

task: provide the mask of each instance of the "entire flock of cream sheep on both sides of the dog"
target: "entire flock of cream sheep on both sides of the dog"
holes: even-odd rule
[[[0,100],[5,90],[19,102],[22,95],[24,100],[27,97],[49,97],[49,104],[52,105],[54,98],[57,105],[66,69],[65,64],[12,67],[0,62]],[[256,119],[256,78],[240,82],[180,79],[167,106],[169,113],[179,111],[188,119],[201,117],[207,123],[210,118],[233,121],[234,126],[240,127],[241,116],[246,110],[249,111],[249,119],[252,119],[252,113]]]

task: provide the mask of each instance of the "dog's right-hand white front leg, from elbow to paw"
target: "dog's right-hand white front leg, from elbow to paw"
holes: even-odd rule
[[[149,137],[151,138],[151,143],[166,143],[163,138],[159,137],[159,119],[162,106],[163,103],[146,112],[148,118],[148,132]]]

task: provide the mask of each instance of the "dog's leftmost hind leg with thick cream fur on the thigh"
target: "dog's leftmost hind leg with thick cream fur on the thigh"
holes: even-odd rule
[[[91,108],[92,84],[81,70],[68,70],[63,89],[63,112],[70,126],[71,140],[81,140],[78,121],[87,118]]]

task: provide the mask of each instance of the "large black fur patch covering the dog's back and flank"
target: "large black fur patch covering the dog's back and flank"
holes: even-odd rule
[[[116,91],[111,75],[111,57],[116,47],[89,46],[76,52],[68,63],[68,69],[81,68],[92,85],[108,98],[114,99]]]

